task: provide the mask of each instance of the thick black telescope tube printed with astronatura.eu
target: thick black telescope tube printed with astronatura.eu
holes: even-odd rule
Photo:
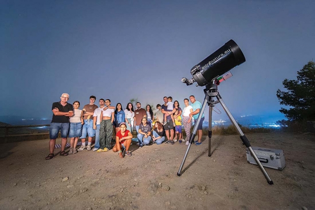
[[[191,74],[199,86],[204,86],[244,62],[243,52],[233,40],[230,40],[194,66]]]

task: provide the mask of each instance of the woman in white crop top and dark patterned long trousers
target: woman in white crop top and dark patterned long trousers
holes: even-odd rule
[[[100,148],[97,152],[107,152],[111,148],[111,141],[113,137],[113,121],[114,121],[114,109],[108,108],[110,106],[110,100],[105,100],[105,107],[101,112],[101,127],[100,127]]]

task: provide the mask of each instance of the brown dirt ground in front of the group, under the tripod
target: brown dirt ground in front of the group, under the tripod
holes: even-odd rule
[[[247,163],[237,135],[212,136],[211,157],[208,137],[193,144],[180,177],[184,143],[133,144],[123,159],[82,151],[52,160],[48,140],[0,144],[0,209],[315,209],[315,135],[246,136],[283,149],[287,166],[265,168],[274,185]]]

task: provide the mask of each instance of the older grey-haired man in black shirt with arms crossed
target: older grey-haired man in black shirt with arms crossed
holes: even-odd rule
[[[65,152],[67,137],[70,129],[69,117],[73,116],[73,106],[67,101],[69,100],[69,94],[62,94],[60,97],[61,101],[54,102],[52,104],[52,120],[49,129],[49,155],[46,160],[50,160],[54,157],[54,148],[56,144],[56,138],[60,131],[61,134],[61,156],[67,156],[68,153]]]

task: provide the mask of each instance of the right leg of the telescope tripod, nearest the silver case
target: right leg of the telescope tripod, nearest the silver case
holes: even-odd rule
[[[266,172],[266,170],[264,169],[263,165],[260,163],[260,161],[258,160],[256,154],[254,153],[253,149],[250,146],[250,143],[247,139],[247,137],[244,135],[244,133],[242,132],[242,130],[240,129],[240,127],[238,126],[238,124],[236,123],[234,117],[232,116],[231,112],[229,111],[228,107],[225,105],[223,99],[221,98],[220,94],[218,94],[216,96],[217,100],[220,102],[220,104],[222,105],[223,109],[225,110],[225,112],[227,113],[228,117],[230,118],[231,123],[233,124],[233,126],[236,128],[238,134],[240,135],[241,140],[243,141],[243,143],[245,144],[245,146],[248,148],[251,156],[254,157],[257,165],[260,167],[261,171],[263,172],[264,176],[267,179],[267,182],[269,185],[273,185],[272,180],[270,179],[268,173]]]

